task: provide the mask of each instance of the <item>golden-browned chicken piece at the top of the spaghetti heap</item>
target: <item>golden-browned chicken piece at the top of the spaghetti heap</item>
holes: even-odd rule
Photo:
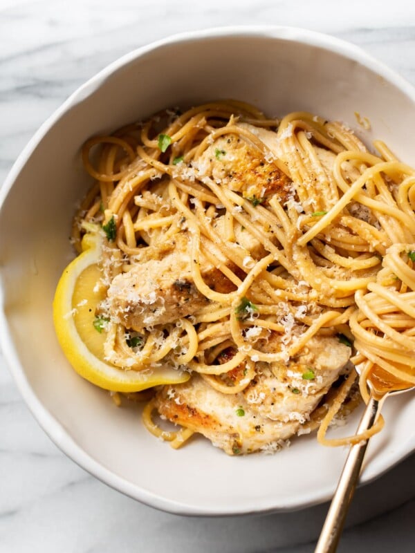
[[[239,126],[255,134],[278,156],[275,132],[250,124]],[[229,134],[217,138],[194,165],[201,174],[211,175],[216,182],[241,193],[255,205],[266,204],[275,194],[285,203],[291,190],[291,178],[273,163],[273,154],[264,159],[251,142]]]

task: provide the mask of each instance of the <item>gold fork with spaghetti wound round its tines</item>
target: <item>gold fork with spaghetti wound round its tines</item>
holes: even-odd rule
[[[356,368],[356,370],[358,369]],[[382,404],[389,395],[396,395],[414,390],[415,388],[415,386],[408,382],[396,379],[378,365],[374,365],[371,369],[367,384],[370,396],[365,412],[360,420],[358,434],[374,426],[380,414],[380,409],[382,409]],[[331,505],[327,512],[317,547],[315,548],[315,553],[334,553],[337,549],[344,521],[346,521],[351,499],[356,489],[368,442],[369,440],[364,440],[350,447],[338,487],[331,500]]]

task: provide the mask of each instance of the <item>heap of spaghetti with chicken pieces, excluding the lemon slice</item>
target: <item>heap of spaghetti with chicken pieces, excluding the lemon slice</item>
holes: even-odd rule
[[[374,366],[415,384],[412,167],[340,122],[234,100],[92,138],[82,159],[95,184],[72,234],[78,252],[91,224],[106,234],[104,359],[192,375],[158,386],[149,431],[238,454],[382,427],[325,438],[358,401],[353,364],[365,401]]]

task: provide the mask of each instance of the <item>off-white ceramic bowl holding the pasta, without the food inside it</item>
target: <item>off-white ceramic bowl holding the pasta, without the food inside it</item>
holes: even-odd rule
[[[118,409],[66,362],[52,323],[55,285],[73,256],[68,233],[89,178],[80,146],[167,106],[237,98],[270,115],[307,110],[382,138],[415,162],[415,91],[360,49],[295,28],[222,28],[159,41],[111,64],[42,126],[1,189],[1,346],[24,399],[75,462],[144,503],[179,514],[284,511],[331,496],[344,449],[314,435],[275,456],[230,458],[204,439],[179,451],[150,435],[136,408]],[[371,131],[354,112],[369,118]],[[358,414],[351,418],[356,428]],[[415,402],[389,400],[371,440],[367,482],[415,446]],[[324,468],[323,468],[324,467]]]

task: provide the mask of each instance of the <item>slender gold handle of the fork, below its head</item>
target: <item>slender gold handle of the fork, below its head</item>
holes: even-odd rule
[[[369,397],[369,402],[360,420],[358,434],[373,427],[380,413],[383,399],[384,397],[376,400],[372,395]],[[365,442],[354,444],[349,449],[349,455],[344,463],[338,487],[331,500],[329,512],[327,512],[315,553],[334,553],[337,549],[344,521],[346,521],[347,512],[349,511],[349,505],[358,483],[368,442],[369,440],[365,440]]]

